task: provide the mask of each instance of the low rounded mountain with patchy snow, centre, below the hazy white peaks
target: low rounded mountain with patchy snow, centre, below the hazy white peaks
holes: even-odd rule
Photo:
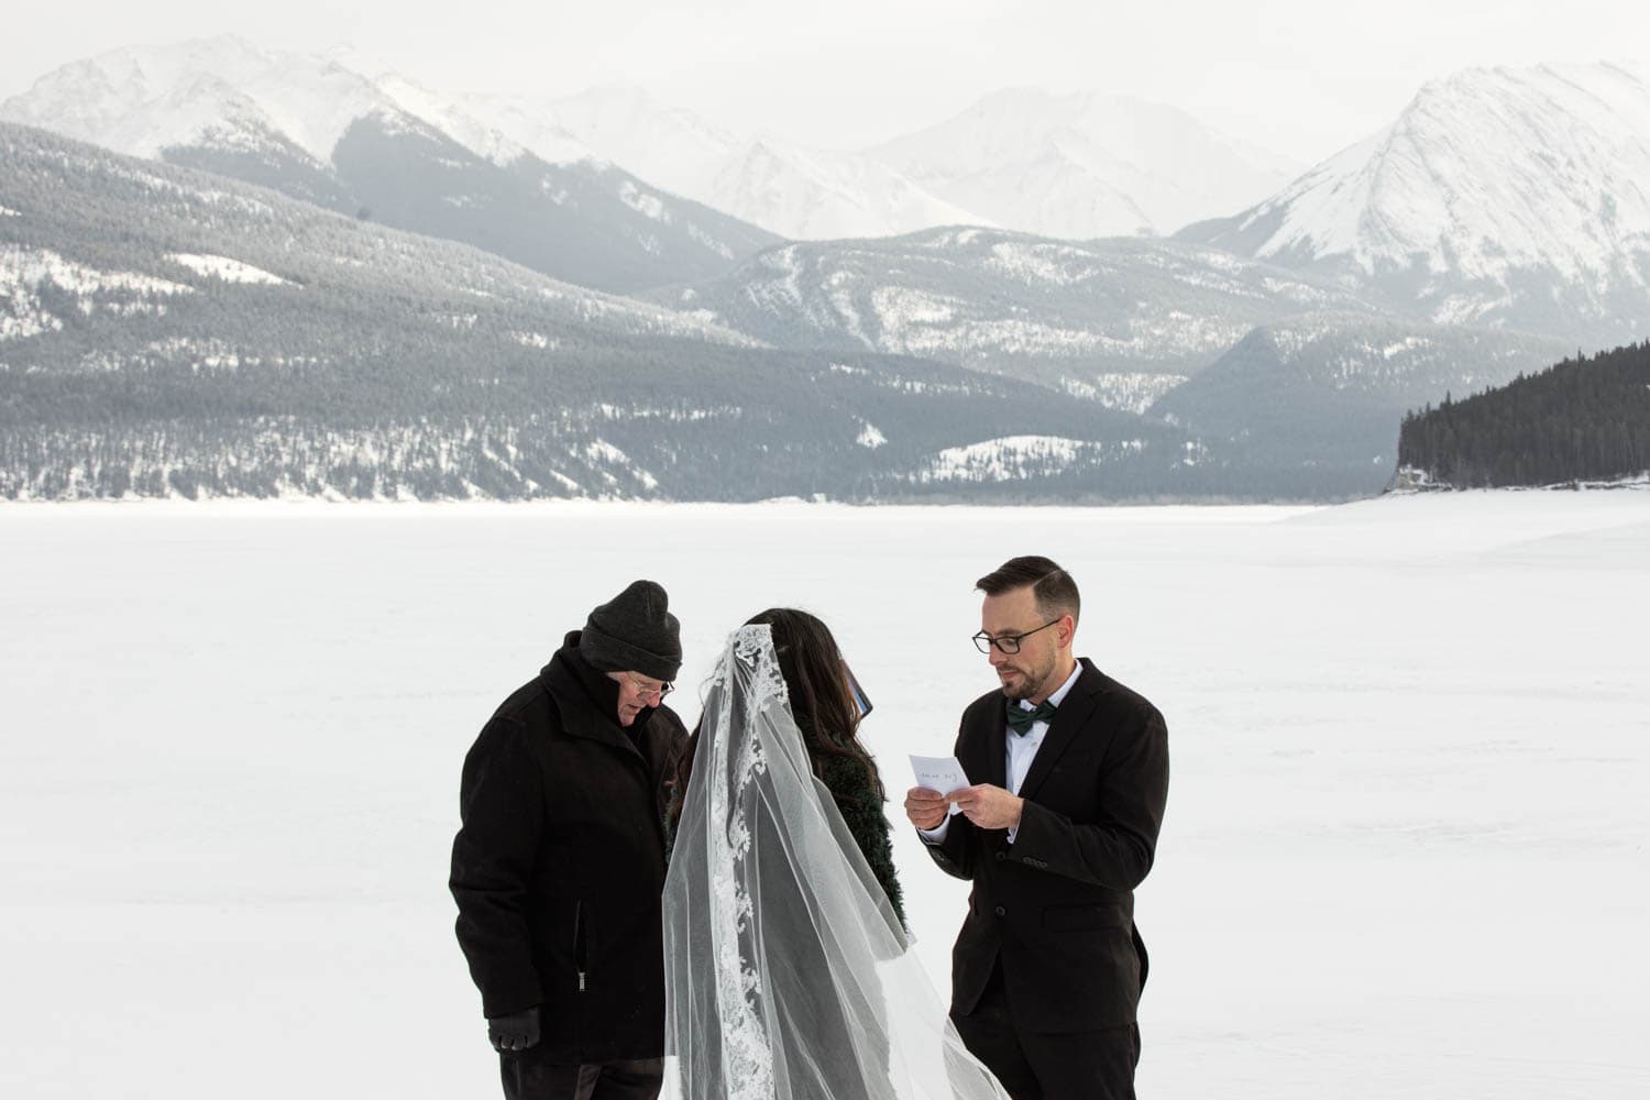
[[[1330,280],[1216,249],[1003,229],[787,244],[648,297],[777,346],[916,355],[1124,409],[1259,323],[1370,308]]]

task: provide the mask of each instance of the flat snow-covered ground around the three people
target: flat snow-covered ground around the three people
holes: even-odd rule
[[[893,790],[1048,552],[1157,701],[1155,1100],[1650,1095],[1650,496],[1332,510],[0,508],[0,1095],[487,1097],[459,764],[563,630],[673,594],[695,684],[830,622]],[[896,811],[896,806],[889,806]],[[896,856],[945,981],[964,889]]]

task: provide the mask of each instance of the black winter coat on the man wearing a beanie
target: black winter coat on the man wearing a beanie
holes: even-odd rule
[[[617,684],[579,658],[578,637],[464,760],[459,945],[485,1016],[543,1006],[538,1057],[662,1057],[663,790],[685,731],[663,706],[620,727]]]

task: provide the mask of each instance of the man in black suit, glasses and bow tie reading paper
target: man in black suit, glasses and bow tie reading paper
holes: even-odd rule
[[[1145,943],[1134,887],[1168,792],[1163,716],[1071,651],[1077,585],[1048,557],[978,581],[975,645],[1002,691],[962,714],[962,792],[921,787],[906,816],[970,879],[950,1014],[1015,1100],[1132,1100]],[[947,818],[947,803],[962,810]]]

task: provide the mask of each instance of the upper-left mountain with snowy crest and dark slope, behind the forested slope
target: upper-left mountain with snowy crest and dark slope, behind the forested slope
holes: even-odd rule
[[[351,68],[351,66],[361,66]],[[363,71],[365,69],[365,71]],[[540,124],[520,140],[348,54],[224,36],[64,66],[0,119],[206,168],[609,290],[703,279],[774,242]]]

